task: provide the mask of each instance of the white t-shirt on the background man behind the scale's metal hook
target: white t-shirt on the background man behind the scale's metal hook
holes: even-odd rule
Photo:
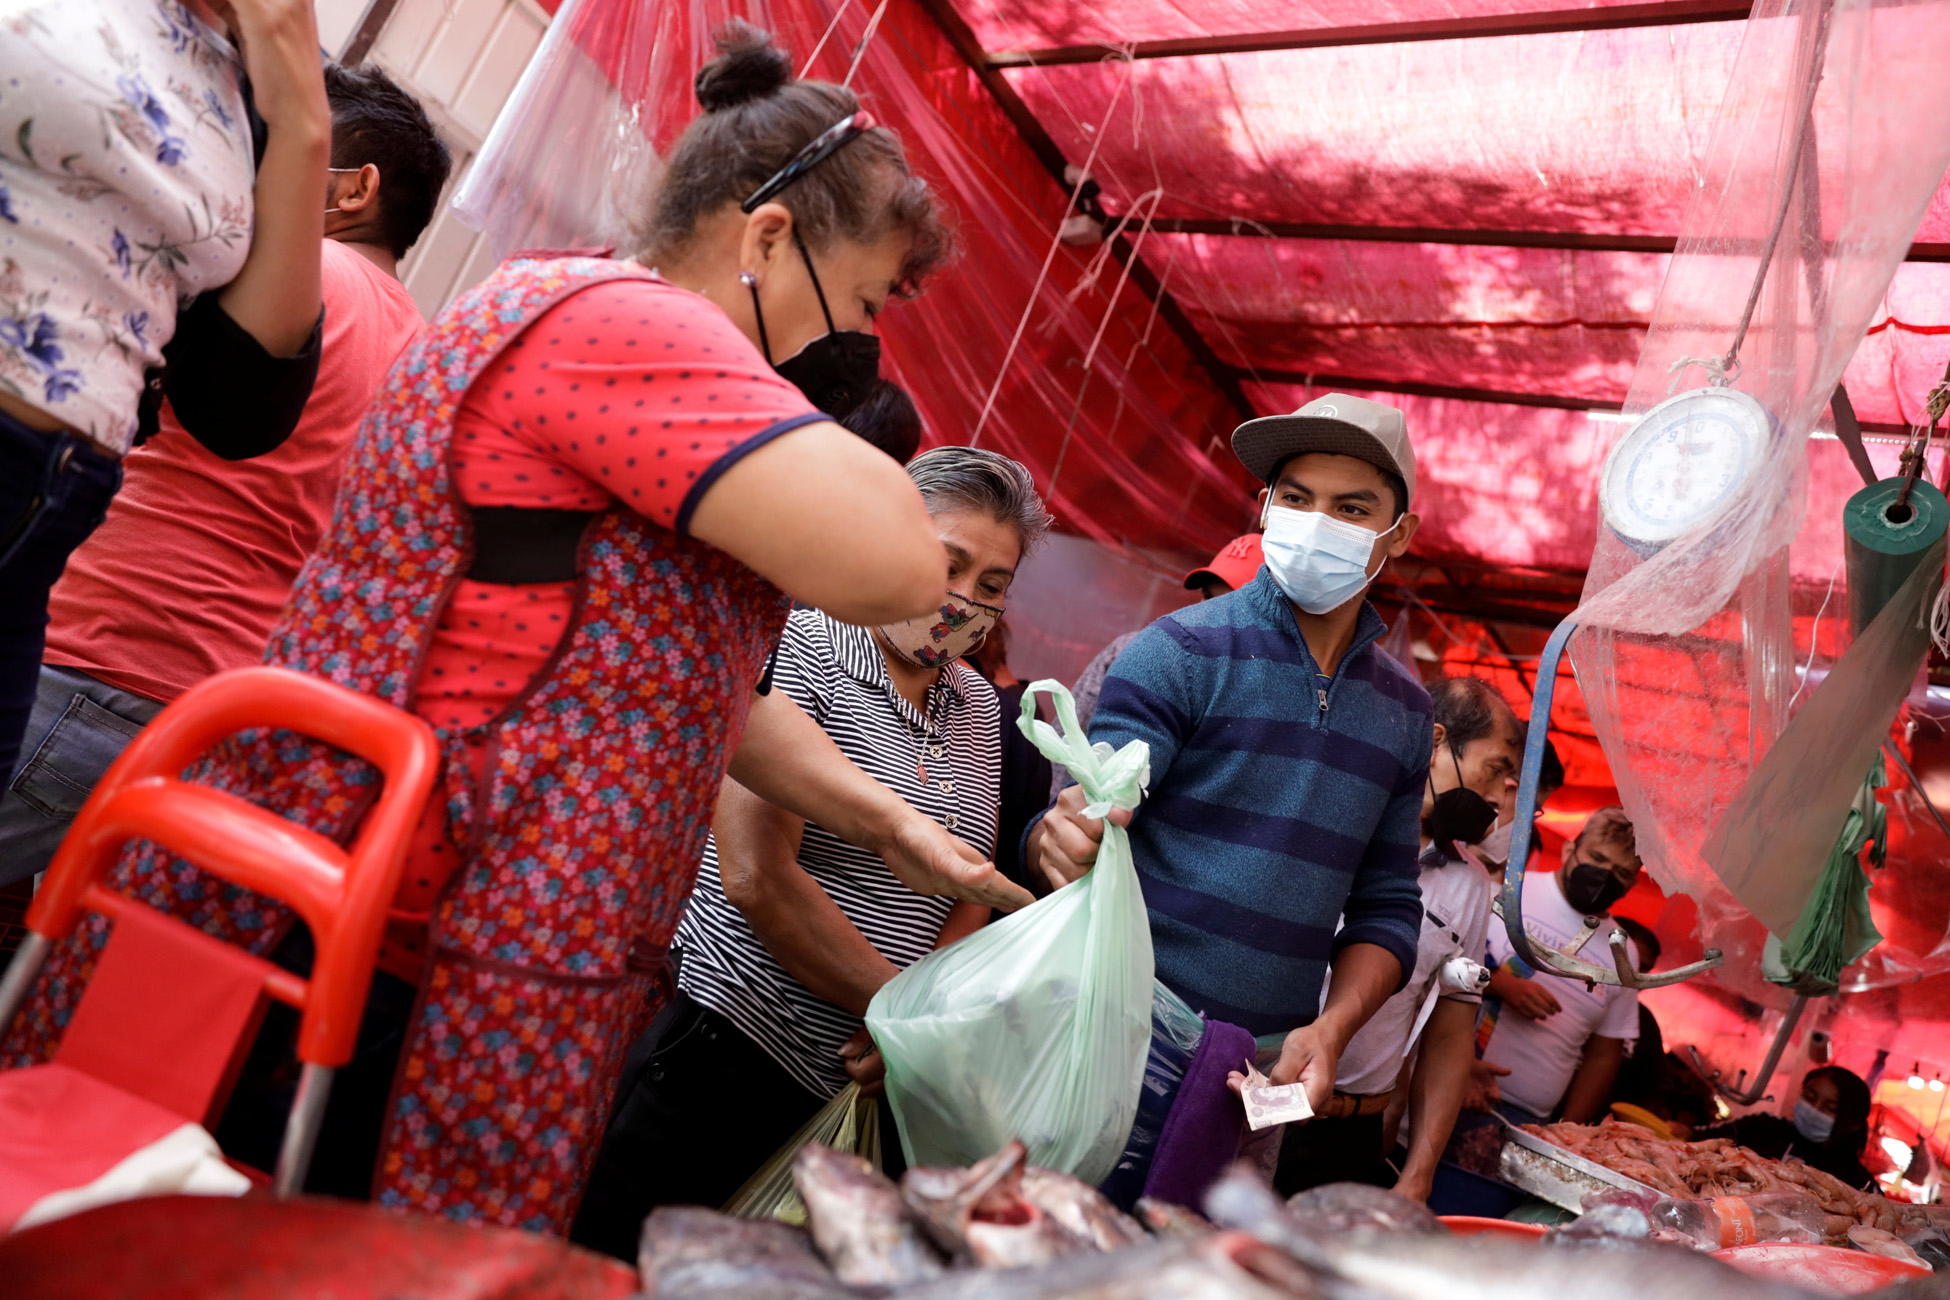
[[[1523,877],[1523,930],[1533,943],[1548,943],[1562,949],[1583,930],[1580,916],[1564,891],[1558,887],[1556,871],[1531,871]],[[1597,928],[1578,957],[1611,967],[1613,924]],[[1638,949],[1632,947],[1632,963],[1638,963]],[[1509,936],[1502,926],[1490,932],[1492,965],[1503,965],[1511,957]],[[1585,1043],[1591,1035],[1607,1039],[1638,1039],[1638,994],[1617,984],[1597,984],[1585,988],[1580,980],[1564,980],[1554,975],[1533,975],[1546,980],[1550,996],[1564,1008],[1548,1019],[1527,1019],[1509,1008],[1498,1008],[1496,1029],[1482,1058],[1509,1070],[1498,1080],[1505,1101],[1521,1105],[1537,1115],[1550,1115],[1564,1101],[1564,1091],[1572,1086],[1572,1076],[1583,1060]],[[1496,1004],[1496,998],[1490,998]],[[1486,1004],[1484,1013],[1488,1015]]]

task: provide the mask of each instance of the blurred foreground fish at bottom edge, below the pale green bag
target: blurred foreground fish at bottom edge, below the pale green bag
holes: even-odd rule
[[[899,1300],[1342,1300],[1342,1294],[1322,1290],[1310,1269],[1244,1232],[1213,1232],[1065,1255],[1039,1269],[950,1273],[903,1290]]]

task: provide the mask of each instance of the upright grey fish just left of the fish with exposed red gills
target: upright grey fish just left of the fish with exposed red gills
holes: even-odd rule
[[[792,1160],[805,1226],[833,1275],[848,1286],[913,1286],[940,1277],[942,1261],[920,1240],[901,1189],[860,1156],[807,1142]]]

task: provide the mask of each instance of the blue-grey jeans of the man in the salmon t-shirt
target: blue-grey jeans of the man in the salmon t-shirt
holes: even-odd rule
[[[0,887],[47,869],[96,782],[160,711],[86,672],[41,667],[20,762],[0,791]]]

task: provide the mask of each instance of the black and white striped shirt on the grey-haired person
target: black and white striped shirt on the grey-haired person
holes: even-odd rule
[[[983,854],[994,852],[1002,719],[994,688],[979,674],[959,661],[948,667],[928,692],[922,717],[895,690],[868,630],[838,624],[819,610],[794,610],[780,641],[774,686],[909,807]],[[909,891],[878,856],[813,822],[805,824],[800,865],[897,967],[934,949],[954,908],[952,899]],[[716,838],[704,848],[677,943],[684,953],[677,982],[686,994],[735,1023],[813,1093],[831,1097],[846,1086],[838,1049],[860,1021],[813,996],[764,949],[725,899]]]

